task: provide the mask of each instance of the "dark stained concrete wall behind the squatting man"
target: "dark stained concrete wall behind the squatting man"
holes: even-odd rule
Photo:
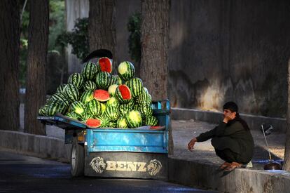
[[[173,107],[285,116],[290,1],[172,1],[170,17]]]

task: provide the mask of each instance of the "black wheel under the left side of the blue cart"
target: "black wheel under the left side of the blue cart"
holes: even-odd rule
[[[73,177],[81,176],[85,166],[85,149],[83,145],[78,144],[74,139],[71,146],[71,175]]]

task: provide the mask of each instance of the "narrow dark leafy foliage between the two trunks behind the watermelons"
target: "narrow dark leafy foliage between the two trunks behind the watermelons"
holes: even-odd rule
[[[139,62],[141,60],[141,13],[137,12],[130,16],[127,29],[130,32],[128,39],[130,56]]]

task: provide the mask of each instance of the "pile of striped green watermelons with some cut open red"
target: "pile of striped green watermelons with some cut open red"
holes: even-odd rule
[[[134,74],[134,65],[128,61],[118,65],[118,75],[112,74],[109,58],[86,62],[81,73],[71,74],[68,84],[58,86],[39,115],[60,113],[93,128],[156,126],[151,95]]]

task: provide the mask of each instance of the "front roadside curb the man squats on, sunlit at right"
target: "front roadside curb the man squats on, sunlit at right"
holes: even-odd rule
[[[223,175],[216,168],[212,164],[169,159],[169,180],[219,192],[289,192],[290,189],[290,173],[286,171],[238,168]]]

